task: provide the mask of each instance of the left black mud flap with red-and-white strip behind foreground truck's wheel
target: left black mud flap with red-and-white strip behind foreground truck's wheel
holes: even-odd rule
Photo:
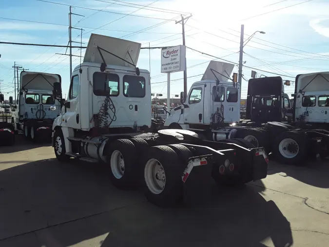
[[[185,204],[197,204],[210,194],[212,182],[212,155],[191,157],[182,174]]]

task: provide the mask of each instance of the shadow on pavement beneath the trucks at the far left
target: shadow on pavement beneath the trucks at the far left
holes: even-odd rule
[[[23,134],[16,134],[14,145],[12,146],[0,145],[0,154],[15,153],[20,151],[30,150],[41,146],[51,146],[51,142],[43,141],[39,143],[33,143],[32,141],[26,140]]]

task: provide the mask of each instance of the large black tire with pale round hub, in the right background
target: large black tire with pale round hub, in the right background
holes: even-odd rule
[[[274,157],[287,165],[303,163],[308,155],[308,139],[307,134],[299,131],[281,133],[274,141]]]

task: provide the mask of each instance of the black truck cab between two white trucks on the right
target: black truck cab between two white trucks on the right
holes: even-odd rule
[[[281,77],[250,79],[246,118],[256,123],[292,120],[292,107]]]

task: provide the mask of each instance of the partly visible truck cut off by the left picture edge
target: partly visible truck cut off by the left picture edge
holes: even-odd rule
[[[0,94],[0,104],[4,103],[4,96]],[[8,123],[11,113],[6,111],[0,112],[0,145],[13,145],[15,144],[15,132],[12,124]]]

